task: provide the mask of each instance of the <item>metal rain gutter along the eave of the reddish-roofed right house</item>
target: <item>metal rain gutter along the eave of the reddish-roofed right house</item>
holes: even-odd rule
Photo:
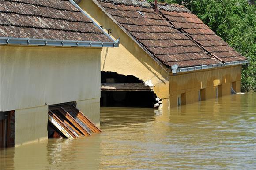
[[[178,65],[173,65],[171,67],[172,73],[176,75],[178,72],[191,72],[191,71],[196,71],[196,70],[202,70],[202,69],[211,69],[215,67],[225,67],[229,65],[240,65],[240,64],[245,64],[248,63],[248,60],[243,60],[243,61],[232,61],[232,62],[225,62],[225,63],[219,63],[219,64],[211,64],[211,65],[200,65],[200,66],[195,66],[195,67],[185,67],[185,68],[178,68]]]

